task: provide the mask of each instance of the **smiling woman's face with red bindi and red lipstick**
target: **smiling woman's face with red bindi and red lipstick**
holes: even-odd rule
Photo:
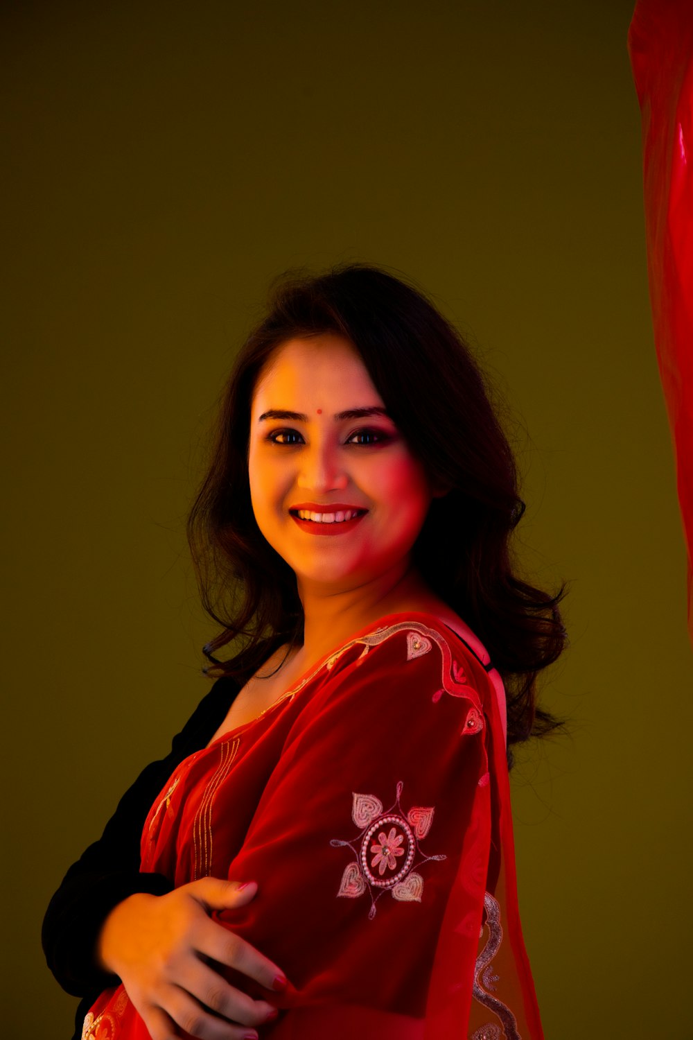
[[[248,469],[258,526],[303,591],[403,572],[432,498],[358,354],[332,333],[289,340],[261,372]]]

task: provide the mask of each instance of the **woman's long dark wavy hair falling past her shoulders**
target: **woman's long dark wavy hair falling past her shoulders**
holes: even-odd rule
[[[536,704],[539,671],[567,639],[554,595],[522,580],[511,536],[525,503],[486,376],[424,292],[384,269],[340,264],[273,281],[266,316],[237,356],[207,475],[188,518],[203,604],[221,626],[206,647],[215,676],[246,680],[284,643],[302,642],[296,578],[261,534],[247,450],[258,376],[278,345],[337,333],[355,346],[410,451],[450,491],[431,502],[412,549],[428,586],[482,641],[506,687],[508,747],[564,727]],[[234,641],[229,660],[214,653]],[[512,756],[509,756],[512,761]]]

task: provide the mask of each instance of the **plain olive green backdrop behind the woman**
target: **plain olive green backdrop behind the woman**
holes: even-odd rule
[[[571,582],[543,695],[571,733],[512,778],[547,1037],[693,1037],[693,669],[633,3],[1,9],[3,1037],[70,1036],[46,904],[208,688],[184,522],[234,352],[272,277],[349,259],[416,279],[481,353],[523,558]]]

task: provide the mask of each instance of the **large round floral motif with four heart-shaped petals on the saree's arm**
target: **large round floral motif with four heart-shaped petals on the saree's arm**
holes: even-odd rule
[[[404,813],[400,805],[403,784],[397,784],[395,804],[383,811],[375,795],[354,792],[351,818],[361,834],[350,841],[332,838],[334,849],[351,849],[355,861],[342,875],[338,896],[357,899],[370,892],[369,918],[375,916],[375,904],[387,890],[400,903],[421,903],[424,879],[415,870],[424,863],[447,859],[444,855],[426,856],[419,840],[425,838],[433,823],[433,806],[412,806]]]

